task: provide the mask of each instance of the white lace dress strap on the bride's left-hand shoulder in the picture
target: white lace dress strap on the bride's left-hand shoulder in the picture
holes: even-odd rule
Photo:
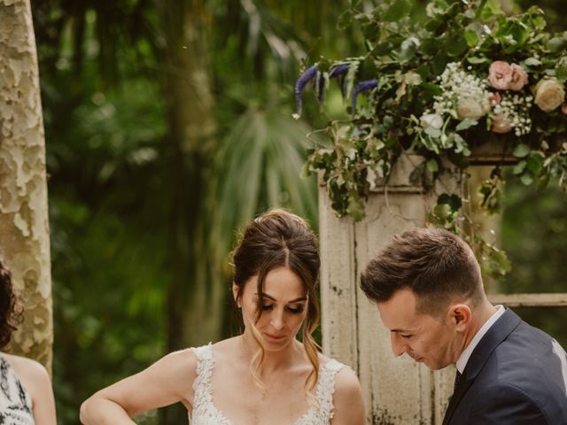
[[[207,344],[191,348],[197,358],[197,376],[193,382],[193,412],[190,414],[191,425],[231,425],[230,421],[213,404],[214,359],[213,345]]]

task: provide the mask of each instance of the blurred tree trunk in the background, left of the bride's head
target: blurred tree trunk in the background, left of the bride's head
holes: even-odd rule
[[[171,148],[171,267],[167,299],[167,348],[206,344],[221,335],[222,282],[209,276],[206,193],[210,152],[214,146],[214,99],[211,93],[206,14],[200,2],[165,0],[169,146]],[[164,411],[162,423],[187,421],[182,408]]]

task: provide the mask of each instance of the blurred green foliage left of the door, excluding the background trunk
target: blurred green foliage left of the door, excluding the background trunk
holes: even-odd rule
[[[216,143],[205,141],[199,194],[174,166],[166,95],[179,70],[164,60],[164,3],[32,6],[50,174],[54,387],[59,423],[74,424],[84,398],[167,352],[171,241],[186,237],[173,224],[180,192],[205,212],[198,234],[206,240],[193,260],[214,269],[207,275],[221,282],[212,286],[229,288],[235,228],[254,214],[289,206],[316,228],[315,180],[299,177],[309,128],[291,119],[291,87],[302,58],[342,52],[352,37],[330,41],[346,1],[208,0],[166,11],[200,14],[210,36],[210,67],[202,65]],[[223,328],[229,334],[228,320]],[[155,413],[139,419],[156,421]]]

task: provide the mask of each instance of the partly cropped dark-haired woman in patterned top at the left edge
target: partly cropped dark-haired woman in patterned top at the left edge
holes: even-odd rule
[[[12,291],[12,274],[0,259],[0,346],[10,342],[21,317]],[[55,425],[50,377],[38,362],[0,352],[0,423]]]

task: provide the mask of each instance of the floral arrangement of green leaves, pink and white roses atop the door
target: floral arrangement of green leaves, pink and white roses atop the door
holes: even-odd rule
[[[526,185],[567,189],[567,33],[545,32],[538,7],[506,16],[495,0],[435,0],[420,21],[410,18],[408,0],[372,12],[358,10],[359,3],[340,23],[361,25],[368,53],[322,59],[295,87],[296,118],[310,81],[320,104],[333,80],[349,100],[350,119],[330,120],[324,131],[331,143],[315,143],[307,160],[308,172],[322,172],[339,216],[361,220],[370,190],[377,179],[387,184],[403,152],[423,158],[410,181],[427,189],[451,167],[466,170],[479,145],[493,145],[502,161],[479,188],[489,213],[501,205],[504,163],[513,162]],[[430,220],[459,232],[470,221],[462,211],[467,202],[442,193]],[[503,252],[478,236],[469,242],[492,261],[489,274],[507,272]]]

